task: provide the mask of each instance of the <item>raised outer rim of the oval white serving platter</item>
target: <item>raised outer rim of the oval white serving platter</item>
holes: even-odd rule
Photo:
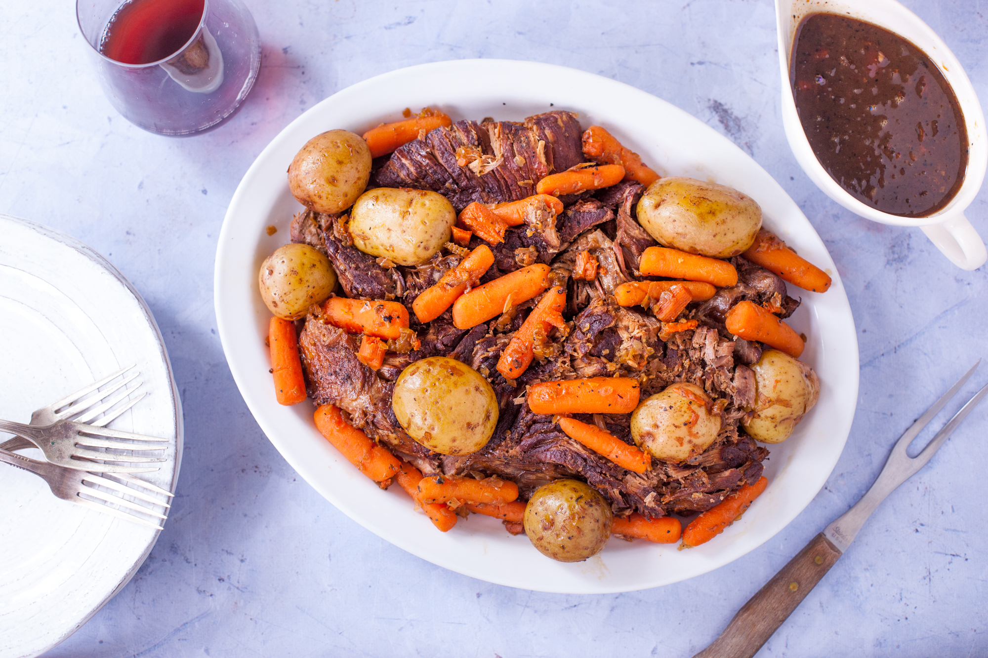
[[[648,100],[648,102],[660,104],[661,106],[664,107],[666,111],[671,112],[672,114],[677,116],[678,119],[684,121],[685,123],[689,123],[691,126],[696,127],[698,130],[705,132],[708,136],[712,137],[713,140],[716,142],[718,148],[728,149],[733,152],[733,155],[735,157],[740,156],[743,160],[750,162],[751,165],[756,167],[761,172],[761,174],[764,175],[766,184],[772,186],[773,199],[779,200],[780,203],[783,203],[785,206],[788,206],[789,211],[792,215],[792,219],[794,221],[805,222],[805,227],[809,229],[810,232],[809,234],[812,236],[812,238],[814,238],[819,243],[819,247],[822,249],[823,254],[826,255],[826,260],[832,266],[832,277],[834,283],[836,284],[836,286],[833,286],[832,289],[835,292],[840,293],[838,304],[843,306],[843,310],[845,311],[842,312],[841,314],[842,320],[846,319],[850,324],[850,332],[848,333],[848,335],[843,336],[843,338],[845,339],[845,342],[849,343],[852,349],[847,351],[848,354],[846,355],[842,354],[841,356],[842,358],[847,357],[848,359],[850,359],[851,361],[850,363],[848,363],[848,366],[849,367],[853,366],[853,377],[851,377],[853,381],[847,382],[847,386],[849,387],[847,393],[839,396],[842,400],[846,399],[849,402],[848,414],[844,418],[843,423],[838,423],[838,427],[836,428],[837,431],[834,434],[835,437],[836,436],[840,437],[841,450],[834,452],[832,463],[829,465],[829,468],[827,469],[826,473],[819,478],[818,486],[812,488],[812,495],[804,496],[805,502],[799,507],[799,509],[794,514],[792,514],[790,518],[788,518],[785,521],[784,524],[780,525],[771,533],[766,533],[764,535],[757,537],[753,543],[748,545],[743,550],[740,550],[740,552],[735,551],[736,554],[733,554],[725,561],[719,561],[715,564],[704,566],[700,571],[696,573],[691,573],[689,576],[674,577],[671,579],[667,579],[663,582],[630,584],[627,586],[605,586],[605,587],[586,587],[586,583],[581,583],[581,586],[578,587],[570,587],[570,586],[544,585],[544,584],[538,585],[528,582],[513,582],[511,579],[492,578],[491,576],[484,574],[482,572],[483,571],[482,569],[468,568],[468,567],[464,567],[463,565],[453,566],[445,562],[442,559],[442,556],[437,556],[435,554],[432,554],[428,550],[419,550],[416,549],[415,547],[411,547],[407,543],[403,543],[400,540],[400,538],[396,537],[393,533],[389,534],[387,532],[384,532],[379,527],[371,527],[369,523],[366,523],[368,521],[368,519],[365,518],[367,515],[361,515],[356,513],[354,510],[350,509],[348,505],[342,503],[337,496],[335,496],[333,493],[328,491],[328,487],[323,486],[323,484],[319,481],[319,479],[312,473],[309,464],[300,463],[297,458],[297,455],[292,454],[288,446],[286,446],[285,450],[283,450],[283,442],[278,439],[278,428],[273,426],[273,424],[270,423],[269,420],[264,417],[263,413],[255,412],[255,408],[254,405],[252,404],[252,399],[251,399],[252,395],[248,389],[247,373],[241,370],[240,365],[239,363],[237,363],[235,358],[236,341],[233,333],[231,333],[233,331],[230,328],[231,325],[228,324],[228,320],[230,323],[232,323],[233,319],[226,317],[225,304],[224,304],[224,289],[223,289],[223,285],[227,277],[232,276],[227,271],[228,269],[224,270],[223,265],[226,262],[226,258],[228,257],[228,250],[234,249],[234,247],[229,245],[231,245],[232,244],[231,241],[234,240],[234,238],[231,238],[231,235],[233,235],[233,231],[235,230],[234,224],[236,223],[237,211],[240,209],[239,206],[241,206],[244,203],[245,198],[250,194],[248,190],[251,186],[251,183],[254,182],[253,179],[255,179],[259,175],[261,169],[266,164],[267,159],[270,158],[272,153],[275,152],[280,147],[282,147],[283,143],[288,141],[292,137],[292,133],[297,129],[297,126],[299,126],[302,123],[306,123],[310,121],[311,117],[314,116],[318,117],[320,113],[325,112],[325,108],[327,106],[332,107],[332,104],[334,102],[338,102],[339,99],[341,98],[345,99],[347,98],[348,95],[360,93],[365,88],[368,87],[373,88],[373,86],[375,85],[386,83],[389,79],[393,79],[398,76],[415,76],[421,74],[423,71],[426,71],[427,74],[429,74],[432,72],[433,69],[439,70],[444,68],[451,69],[451,71],[455,69],[463,69],[463,68],[469,70],[471,67],[476,67],[478,69],[483,69],[484,67],[487,67],[488,72],[490,72],[490,70],[492,69],[497,71],[500,68],[510,69],[512,67],[515,67],[516,69],[518,69],[519,67],[525,67],[524,71],[517,70],[516,72],[524,73],[525,75],[530,75],[530,76],[535,76],[535,75],[541,76],[541,75],[552,75],[552,74],[566,76],[567,78],[571,76],[576,76],[581,78],[583,82],[592,81],[596,85],[605,88],[611,87],[611,89],[620,91],[623,94],[639,95],[639,98],[645,98]],[[462,70],[460,70],[459,72],[462,73]],[[477,71],[473,71],[473,72],[476,73]],[[455,94],[456,92],[453,92],[451,94],[448,94],[448,96],[450,96],[451,98],[455,98]],[[437,94],[437,96],[438,96],[437,104],[444,105],[445,103],[440,103],[440,101],[442,101],[442,98],[439,97],[439,94]],[[528,100],[529,100],[528,97],[526,97],[526,101]],[[455,100],[449,101],[449,103],[451,104],[455,102],[456,102]],[[565,107],[567,107],[565,104],[560,104],[560,109]],[[325,129],[328,129],[329,127],[335,127],[335,126],[327,126]],[[285,183],[284,186],[287,188],[287,183]],[[260,243],[252,242],[251,244],[257,245]],[[253,278],[252,275],[251,277]],[[788,526],[788,524],[791,523],[795,519],[795,517],[798,516],[810,504],[810,502],[812,502],[815,495],[823,487],[823,485],[826,483],[827,478],[833,472],[834,467],[836,467],[836,464],[840,458],[841,453],[843,452],[843,448],[846,445],[848,436],[850,434],[851,425],[854,421],[854,416],[857,406],[855,402],[857,401],[858,388],[860,382],[860,356],[858,351],[857,331],[855,329],[854,315],[851,311],[850,301],[848,300],[846,290],[844,289],[843,284],[841,282],[840,275],[837,272],[836,265],[833,264],[833,259],[830,256],[829,251],[826,249],[826,245],[823,243],[822,239],[820,238],[819,234],[816,232],[816,229],[813,227],[813,225],[809,222],[808,218],[806,218],[805,214],[803,214],[801,209],[799,209],[799,207],[795,204],[795,202],[785,193],[785,191],[782,189],[782,186],[778,183],[778,181],[776,181],[763,167],[761,167],[761,165],[759,165],[754,160],[754,158],[752,158],[747,153],[742,151],[736,144],[734,144],[724,135],[721,135],[719,132],[714,130],[709,125],[700,122],[700,120],[698,120],[696,117],[672,105],[668,101],[665,101],[652,94],[649,94],[648,92],[637,89],[631,85],[618,82],[611,78],[606,78],[604,76],[600,76],[594,73],[589,73],[586,71],[581,71],[579,69],[559,66],[555,64],[545,64],[541,62],[532,62],[532,61],[516,60],[516,59],[456,59],[456,60],[445,60],[445,61],[417,64],[414,66],[388,71],[373,76],[371,78],[368,78],[366,80],[363,80],[361,82],[355,83],[354,85],[351,85],[349,87],[337,91],[335,94],[320,101],[318,104],[314,105],[312,108],[302,113],[295,120],[288,123],[288,125],[265,146],[265,148],[261,151],[261,153],[255,159],[255,161],[245,172],[243,179],[241,180],[240,184],[237,186],[237,189],[230,200],[230,204],[227,207],[227,211],[223,219],[223,224],[220,228],[218,242],[217,242],[216,260],[215,260],[214,277],[213,277],[213,300],[214,300],[214,309],[216,312],[217,332],[219,333],[220,342],[223,346],[224,356],[226,357],[227,364],[230,368],[231,374],[233,375],[234,381],[236,382],[237,387],[240,390],[245,403],[247,404],[248,408],[251,410],[251,414],[254,416],[255,421],[258,423],[262,431],[269,438],[269,441],[272,442],[275,448],[279,452],[281,452],[282,455],[285,457],[285,459],[288,461],[288,464],[291,465],[291,467],[296,472],[298,472],[298,474],[301,475],[314,489],[316,489],[316,491],[318,491],[320,495],[326,498],[338,510],[342,511],[344,514],[346,514],[348,517],[353,519],[359,525],[371,531],[371,533],[380,536],[381,538],[387,540],[388,542],[394,544],[399,548],[402,548],[407,552],[410,552],[433,564],[442,566],[444,568],[448,568],[454,572],[461,573],[463,575],[477,578],[486,582],[506,585],[510,587],[516,587],[519,589],[528,589],[528,590],[544,591],[544,592],[556,592],[556,593],[572,593],[572,594],[598,594],[598,593],[618,593],[618,592],[637,591],[642,589],[649,589],[652,587],[659,587],[665,584],[671,584],[673,582],[678,582],[680,580],[683,580],[684,578],[692,578],[732,562],[738,557],[750,552],[751,550],[754,550],[759,545],[769,540],[772,536],[781,532],[783,528]],[[231,354],[234,356],[233,359],[231,359]],[[725,550],[724,552],[729,553],[732,551]]]

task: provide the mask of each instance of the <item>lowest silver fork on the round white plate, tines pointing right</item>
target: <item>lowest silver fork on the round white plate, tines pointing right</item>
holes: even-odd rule
[[[139,512],[141,514],[146,514],[150,517],[155,517],[164,521],[167,519],[166,516],[155,512],[154,510],[148,509],[142,505],[137,505],[136,503],[131,503],[122,496],[114,495],[101,491],[96,488],[96,485],[100,485],[111,489],[113,491],[119,492],[120,494],[125,494],[128,496],[133,496],[138,500],[143,500],[153,505],[161,505],[165,510],[169,509],[167,503],[163,503],[151,496],[143,493],[142,491],[137,491],[129,486],[124,486],[118,482],[115,482],[106,477],[101,477],[93,473],[87,473],[83,470],[77,470],[74,468],[63,468],[62,466],[57,466],[53,463],[48,463],[47,461],[40,461],[39,459],[32,459],[29,456],[23,454],[17,454],[16,452],[10,452],[0,449],[0,461],[9,463],[12,466],[18,468],[23,468],[29,472],[35,473],[44,480],[48,488],[51,489],[53,493],[58,498],[62,500],[67,500],[70,503],[75,503],[76,505],[82,505],[85,508],[96,510],[98,512],[103,512],[104,514],[109,514],[120,519],[125,519],[142,526],[148,526],[157,530],[162,530],[159,522],[150,522],[139,516],[118,510],[114,507],[110,507],[107,503],[114,503],[120,505],[128,510],[133,510],[134,512]],[[134,478],[136,479],[136,478]],[[138,480],[142,485],[149,485],[147,482]],[[154,485],[149,485],[150,489],[158,490],[158,487]],[[91,496],[98,499],[97,502],[94,500],[89,500],[83,496]],[[169,494],[171,495],[171,494]]]

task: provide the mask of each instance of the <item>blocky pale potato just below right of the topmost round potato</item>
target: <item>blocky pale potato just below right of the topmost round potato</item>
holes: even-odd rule
[[[453,205],[426,190],[377,188],[365,192],[350,214],[350,235],[365,254],[396,265],[421,265],[450,241]]]

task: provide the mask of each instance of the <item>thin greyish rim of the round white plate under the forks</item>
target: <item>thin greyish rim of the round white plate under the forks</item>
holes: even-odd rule
[[[168,373],[168,378],[171,383],[171,403],[174,411],[174,421],[175,421],[175,469],[174,472],[172,473],[171,491],[172,493],[175,493],[179,481],[179,471],[181,470],[182,467],[182,452],[185,446],[185,425],[184,425],[184,419],[182,413],[182,398],[179,395],[178,384],[175,381],[175,372],[172,369],[172,363],[168,357],[168,349],[165,346],[164,336],[162,336],[161,329],[158,327],[158,323],[154,319],[154,314],[151,313],[151,309],[147,305],[147,302],[144,301],[144,298],[140,295],[140,292],[138,292],[137,289],[133,287],[133,285],[126,279],[126,277],[124,277],[123,273],[121,273],[121,271],[118,270],[113,265],[113,263],[108,261],[102,254],[100,254],[95,249],[87,245],[85,242],[79,240],[78,238],[73,237],[68,233],[60,231],[56,228],[52,228],[45,224],[41,224],[37,221],[0,212],[0,222],[3,221],[11,221],[14,223],[19,223],[33,230],[34,232],[44,236],[47,239],[58,242],[64,245],[65,247],[68,247],[69,249],[78,252],[79,254],[81,254],[82,256],[86,257],[88,260],[92,261],[94,264],[99,266],[105,272],[110,274],[114,278],[114,280],[118,284],[123,285],[124,288],[126,288],[126,290],[136,300],[137,305],[140,307],[141,311],[143,312],[143,319],[148,323],[148,326],[151,328],[154,336],[157,338],[159,356],[162,362],[164,363],[165,370]],[[167,523],[167,521],[165,521],[165,523]],[[164,526],[164,524],[162,524],[162,526]],[[161,536],[161,532],[162,531],[160,530],[154,532],[154,535],[152,535],[152,538],[148,541],[147,546],[145,546],[144,551],[141,553],[139,557],[135,559],[133,565],[126,571],[124,576],[120,579],[120,581],[114,587],[114,589],[112,590],[109,596],[107,596],[103,601],[99,603],[99,605],[97,605],[95,608],[89,611],[85,615],[85,617],[82,617],[80,620],[73,622],[73,625],[71,625],[70,628],[65,630],[57,639],[47,644],[47,646],[41,648],[41,650],[39,650],[37,654],[29,654],[29,655],[40,655],[41,653],[44,653],[45,651],[48,651],[58,646],[62,642],[64,642],[66,639],[71,637],[76,631],[82,628],[82,626],[84,626],[97,613],[99,613],[103,609],[103,607],[106,606],[108,603],[110,603],[110,601],[114,597],[120,594],[120,592],[133,579],[134,575],[136,575],[137,571],[144,564],[144,561],[147,559],[147,556],[151,553],[151,550],[154,548],[154,545],[157,543],[158,537]]]

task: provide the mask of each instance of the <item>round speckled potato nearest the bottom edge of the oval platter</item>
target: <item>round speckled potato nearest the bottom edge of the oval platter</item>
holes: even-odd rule
[[[535,489],[525,506],[525,534],[543,555],[582,562],[611,538],[611,504],[589,484],[554,480]]]

